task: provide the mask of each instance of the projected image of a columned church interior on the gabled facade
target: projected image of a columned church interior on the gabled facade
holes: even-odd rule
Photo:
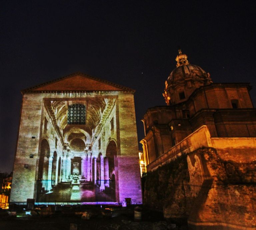
[[[43,114],[37,200],[115,201],[115,99],[45,99]]]

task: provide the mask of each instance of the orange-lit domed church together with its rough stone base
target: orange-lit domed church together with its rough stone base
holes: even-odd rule
[[[192,229],[255,228],[251,86],[213,83],[181,50],[176,61],[165,81],[166,106],[149,108],[142,119],[143,203]]]

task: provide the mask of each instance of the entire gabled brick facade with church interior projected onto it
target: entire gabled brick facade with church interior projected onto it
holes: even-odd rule
[[[83,74],[23,91],[11,202],[142,202],[133,93]]]

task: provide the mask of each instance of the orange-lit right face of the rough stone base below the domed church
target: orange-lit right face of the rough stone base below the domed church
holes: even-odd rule
[[[239,151],[239,149],[237,150]],[[256,226],[256,161],[242,162],[239,158],[223,160],[215,149],[200,149],[204,177],[203,187],[194,199],[189,213],[191,225],[222,225],[254,228]],[[190,156],[192,156],[190,155]],[[192,169],[189,168],[189,173]],[[191,167],[192,168],[192,167]],[[190,177],[192,173],[190,173]],[[195,211],[197,210],[197,211]]]

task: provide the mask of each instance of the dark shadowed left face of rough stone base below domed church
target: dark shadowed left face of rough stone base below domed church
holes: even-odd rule
[[[185,189],[189,182],[186,156],[147,172],[143,204],[157,211],[170,208],[172,217],[186,217]]]

